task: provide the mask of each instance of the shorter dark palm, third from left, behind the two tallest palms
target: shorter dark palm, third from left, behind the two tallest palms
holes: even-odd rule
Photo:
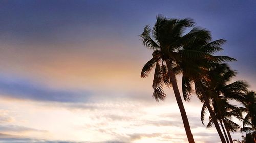
[[[230,131],[238,131],[240,126],[233,121],[230,120],[230,117],[237,117],[241,119],[242,114],[240,108],[234,107],[233,105],[228,103],[228,100],[236,100],[236,101],[243,101],[244,100],[244,92],[247,91],[247,83],[244,81],[236,81],[231,84],[227,84],[234,76],[236,75],[236,71],[230,70],[229,67],[226,66],[219,66],[215,70],[209,72],[210,80],[210,87],[207,87],[208,90],[211,90],[214,95],[210,95],[207,93],[208,96],[212,99],[212,107],[214,108],[215,114],[220,122],[220,125],[223,129],[223,133],[226,137],[227,142],[233,142],[232,137],[230,135]],[[205,113],[205,106],[203,106],[201,112],[201,120],[203,123],[204,120],[204,113]],[[224,125],[223,125],[223,124]],[[208,123],[207,127],[212,125],[212,120]],[[228,134],[228,137],[226,135]],[[228,139],[229,138],[229,141]]]

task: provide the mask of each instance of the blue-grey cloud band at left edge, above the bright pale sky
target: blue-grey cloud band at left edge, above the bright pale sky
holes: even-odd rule
[[[51,89],[45,85],[16,77],[0,75],[1,96],[36,101],[86,102],[88,91]]]

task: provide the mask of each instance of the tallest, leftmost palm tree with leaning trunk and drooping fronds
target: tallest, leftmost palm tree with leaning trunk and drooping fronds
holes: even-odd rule
[[[179,106],[183,125],[186,131],[186,135],[189,143],[194,143],[193,135],[189,126],[188,118],[185,108],[178,89],[176,74],[179,70],[176,70],[176,56],[177,50],[181,46],[189,41],[189,39],[195,37],[198,32],[196,30],[183,35],[186,27],[193,27],[194,22],[191,19],[167,19],[164,16],[158,15],[156,24],[154,25],[151,38],[151,30],[148,25],[144,28],[144,32],[140,35],[144,45],[154,50],[153,58],[148,61],[142,69],[141,77],[147,77],[148,73],[155,67],[155,74],[153,79],[153,97],[159,101],[166,97],[163,92],[163,85],[168,87],[172,86],[174,95]]]

